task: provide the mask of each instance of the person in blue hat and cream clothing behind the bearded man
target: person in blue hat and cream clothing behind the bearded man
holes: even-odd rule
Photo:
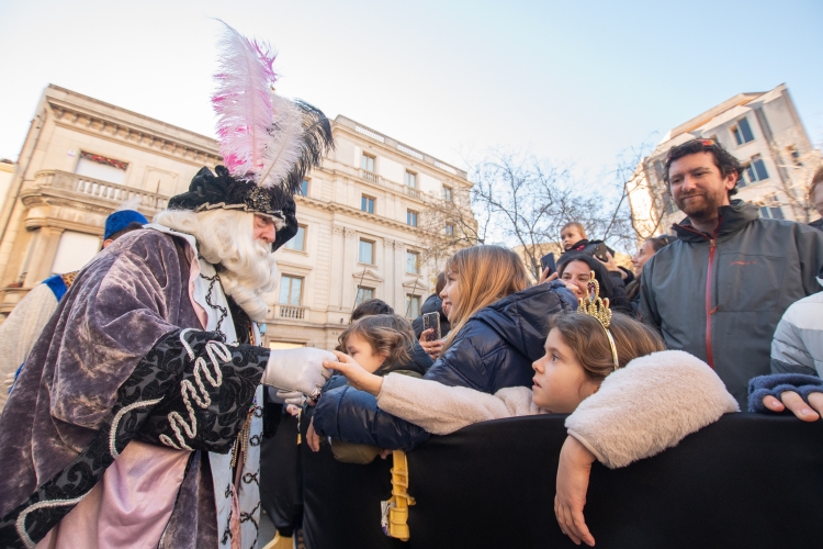
[[[143,228],[148,220],[134,210],[120,210],[105,219],[103,249],[126,233]],[[0,412],[18,370],[34,347],[48,320],[79,271],[55,274],[32,289],[0,325]]]

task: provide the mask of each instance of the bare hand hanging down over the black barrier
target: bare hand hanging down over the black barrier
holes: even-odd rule
[[[557,490],[554,496],[554,516],[563,534],[577,545],[584,541],[594,547],[595,538],[583,517],[586,491],[595,456],[573,436],[566,437],[560,451]]]

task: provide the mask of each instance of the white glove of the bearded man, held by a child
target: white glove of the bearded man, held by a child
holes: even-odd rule
[[[284,391],[300,391],[316,397],[320,388],[331,377],[331,370],[323,367],[324,360],[336,361],[327,350],[312,347],[272,350],[263,372],[262,383]]]

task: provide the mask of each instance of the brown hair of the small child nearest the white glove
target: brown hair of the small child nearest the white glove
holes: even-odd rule
[[[371,345],[372,352],[386,355],[377,372],[392,363],[412,360],[415,330],[412,324],[401,315],[374,314],[354,322],[337,339],[342,352],[346,352],[346,339],[352,334],[365,339]]]

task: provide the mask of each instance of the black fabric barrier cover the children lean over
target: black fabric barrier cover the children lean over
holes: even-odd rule
[[[554,518],[563,419],[487,422],[409,452],[408,542],[380,529],[391,459],[303,448],[306,545],[576,547]],[[595,463],[585,515],[598,548],[823,547],[823,423],[729,414],[624,469]]]

